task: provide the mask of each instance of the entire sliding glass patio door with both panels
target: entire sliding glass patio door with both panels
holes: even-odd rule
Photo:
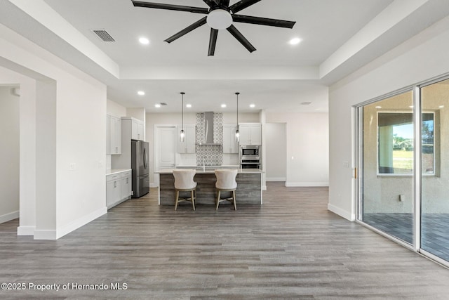
[[[357,112],[357,219],[449,266],[449,79]]]

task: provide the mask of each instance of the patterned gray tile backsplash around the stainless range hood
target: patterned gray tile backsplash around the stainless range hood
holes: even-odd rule
[[[223,114],[213,113],[213,142],[220,145],[199,145],[204,140],[204,114],[196,114],[196,165],[220,166],[223,164]]]

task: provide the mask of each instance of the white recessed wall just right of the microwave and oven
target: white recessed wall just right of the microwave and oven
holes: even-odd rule
[[[265,174],[267,181],[286,181],[287,133],[286,123],[266,123],[265,126]]]

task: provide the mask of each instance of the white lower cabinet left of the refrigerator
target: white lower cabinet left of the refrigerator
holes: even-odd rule
[[[125,170],[109,174],[106,176],[106,206],[107,209],[130,199],[131,190],[131,170]]]

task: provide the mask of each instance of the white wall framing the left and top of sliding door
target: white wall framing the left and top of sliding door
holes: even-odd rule
[[[445,18],[330,88],[328,208],[355,219],[353,105],[449,72],[449,18]],[[351,162],[343,167],[343,162]]]

